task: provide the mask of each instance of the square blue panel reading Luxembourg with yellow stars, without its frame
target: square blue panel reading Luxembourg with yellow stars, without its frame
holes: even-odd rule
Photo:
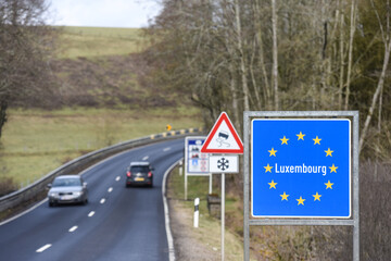
[[[251,161],[253,216],[351,216],[350,120],[253,120]]]

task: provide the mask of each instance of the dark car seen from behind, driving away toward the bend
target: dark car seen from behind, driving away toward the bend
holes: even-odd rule
[[[154,169],[147,161],[131,162],[126,171],[126,187],[133,185],[153,186]]]

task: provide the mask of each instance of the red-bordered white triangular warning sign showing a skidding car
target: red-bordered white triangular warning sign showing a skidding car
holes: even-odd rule
[[[222,112],[218,116],[201,148],[201,152],[227,154],[243,153],[243,142],[226,112]]]

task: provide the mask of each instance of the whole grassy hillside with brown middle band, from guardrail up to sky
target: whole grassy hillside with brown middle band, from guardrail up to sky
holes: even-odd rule
[[[0,140],[1,181],[26,186],[66,161],[119,141],[199,127],[202,119],[184,95],[146,78],[142,32],[61,27],[53,94],[45,107],[26,100],[9,110]]]

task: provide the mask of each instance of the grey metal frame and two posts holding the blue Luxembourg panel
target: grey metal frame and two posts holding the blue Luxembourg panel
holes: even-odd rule
[[[250,219],[250,138],[251,120],[256,117],[345,117],[352,119],[352,219]],[[360,177],[358,177],[358,112],[357,111],[245,111],[243,114],[243,139],[244,139],[244,163],[243,163],[243,245],[244,261],[250,260],[250,226],[252,225],[339,225],[353,226],[353,260],[360,260]]]

